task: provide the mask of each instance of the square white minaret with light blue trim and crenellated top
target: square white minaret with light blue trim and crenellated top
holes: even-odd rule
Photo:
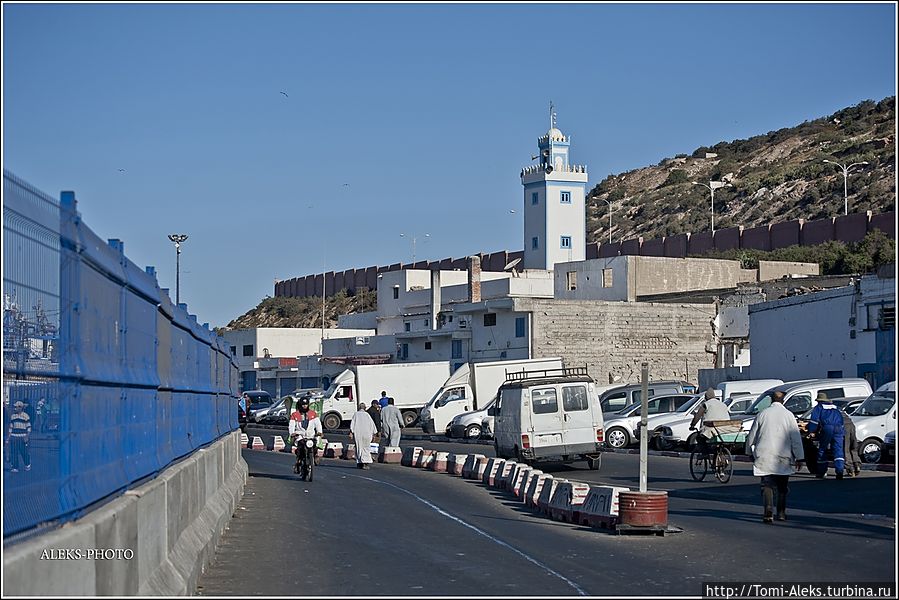
[[[540,164],[521,171],[525,269],[587,258],[587,167],[568,162],[571,138],[556,129],[552,102],[549,120],[549,131],[537,138]]]

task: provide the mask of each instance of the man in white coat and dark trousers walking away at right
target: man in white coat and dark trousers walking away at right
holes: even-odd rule
[[[777,490],[777,520],[787,520],[787,486],[794,468],[805,459],[796,417],[784,405],[783,392],[774,392],[771,406],[755,419],[746,448],[753,457],[752,472],[762,478],[762,521],[774,522],[774,491]]]

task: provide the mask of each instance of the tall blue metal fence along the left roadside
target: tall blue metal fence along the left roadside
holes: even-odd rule
[[[237,428],[224,341],[103,242],[74,193],[3,173],[3,536],[74,519]],[[13,419],[13,415],[15,419]]]

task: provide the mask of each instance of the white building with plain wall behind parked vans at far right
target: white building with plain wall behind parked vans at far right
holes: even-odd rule
[[[749,307],[753,378],[895,379],[892,271]]]

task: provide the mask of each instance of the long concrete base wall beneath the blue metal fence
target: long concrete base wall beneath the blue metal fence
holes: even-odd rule
[[[246,448],[234,431],[64,527],[3,550],[4,596],[187,596],[243,495]],[[81,549],[43,560],[48,548]],[[88,549],[120,552],[94,559]],[[124,554],[125,552],[127,554]]]

